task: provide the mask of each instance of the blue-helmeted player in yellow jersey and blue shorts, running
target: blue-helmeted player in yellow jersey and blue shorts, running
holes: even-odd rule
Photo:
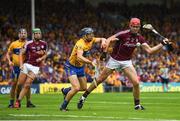
[[[101,45],[104,45],[106,40],[105,38],[94,37],[94,30],[89,27],[81,30],[81,36],[76,42],[68,61],[65,63],[65,71],[72,86],[61,89],[64,95],[64,101],[60,105],[61,111],[67,111],[68,103],[78,91],[87,89],[84,65],[91,64],[94,67],[96,66],[96,63],[89,60],[87,56],[94,43],[101,42]]]

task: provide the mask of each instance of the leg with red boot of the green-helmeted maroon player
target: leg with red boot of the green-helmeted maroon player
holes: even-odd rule
[[[22,90],[19,94],[18,100],[16,101],[16,104],[15,104],[16,108],[20,107],[20,102],[23,99],[23,97],[27,94],[27,92],[30,89],[31,84],[32,84],[33,80],[35,79],[35,77],[36,77],[36,75],[31,71],[27,74],[27,78],[26,78],[26,81],[24,83],[24,87],[22,88]]]

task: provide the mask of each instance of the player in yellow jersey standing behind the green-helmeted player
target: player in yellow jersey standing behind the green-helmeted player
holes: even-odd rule
[[[18,37],[19,39],[12,42],[8,48],[8,52],[6,54],[7,60],[9,62],[9,66],[12,68],[12,73],[11,73],[11,91],[10,91],[10,103],[9,103],[9,108],[14,107],[14,100],[15,100],[15,90],[16,90],[16,85],[17,85],[17,80],[20,74],[20,62],[19,62],[19,54],[20,50],[23,48],[24,44],[27,41],[27,31],[24,28],[19,29],[18,32]],[[11,61],[11,54],[12,54],[12,61]],[[25,57],[23,56],[22,59],[24,60]],[[20,90],[20,89],[18,89]],[[27,107],[35,107],[34,104],[31,103],[30,101],[30,95],[31,95],[31,90],[29,89],[26,95],[27,98]],[[18,97],[18,96],[17,96]]]

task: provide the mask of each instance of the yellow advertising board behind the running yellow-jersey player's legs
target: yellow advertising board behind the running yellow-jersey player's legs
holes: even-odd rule
[[[89,87],[90,83],[87,84]],[[70,87],[71,84],[40,84],[40,94],[59,94],[61,93],[61,88]],[[103,86],[100,84],[93,93],[103,93]]]

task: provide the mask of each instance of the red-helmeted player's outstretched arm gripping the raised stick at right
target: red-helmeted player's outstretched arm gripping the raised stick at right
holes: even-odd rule
[[[156,53],[158,52],[162,47],[163,45],[167,44],[168,43],[168,39],[164,39],[162,43],[154,46],[154,47],[150,47],[147,43],[143,43],[142,44],[142,48],[149,54],[153,54],[153,53]]]

